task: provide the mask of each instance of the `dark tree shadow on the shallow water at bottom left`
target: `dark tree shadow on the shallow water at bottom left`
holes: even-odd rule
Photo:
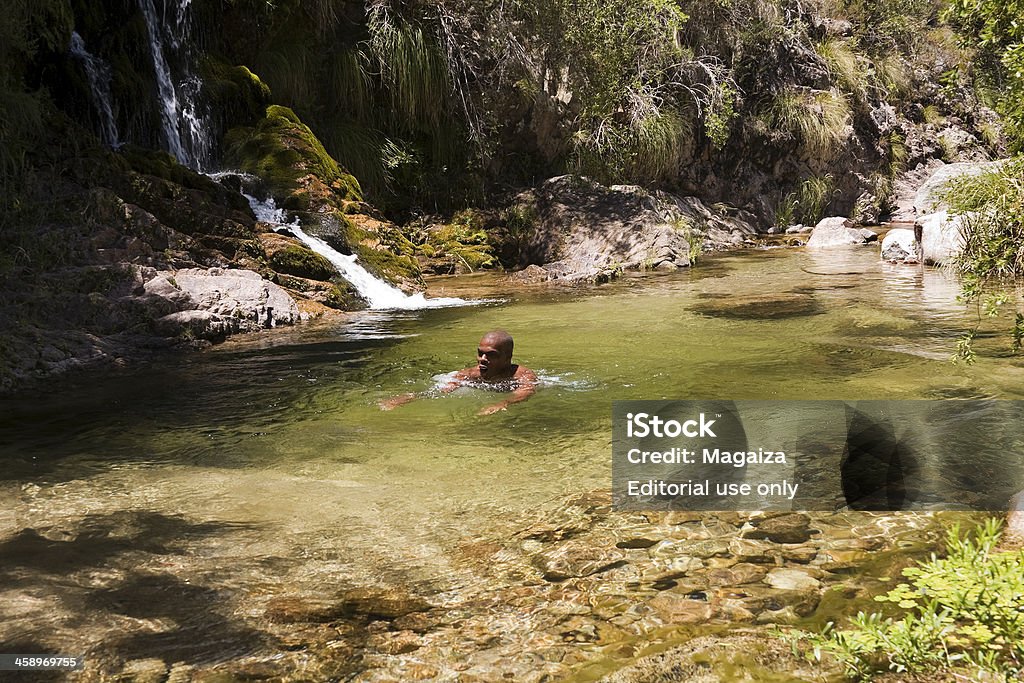
[[[0,608],[13,632],[0,642],[0,652],[83,654],[72,651],[75,644],[65,641],[61,627],[92,636],[96,629],[111,630],[87,653],[89,660],[209,664],[259,649],[269,637],[230,616],[230,591],[160,571],[161,563],[153,563],[153,556],[250,527],[136,510],[88,515],[42,532],[23,529],[0,543],[0,590],[31,596],[30,607],[18,598]],[[34,615],[32,600],[46,608]],[[134,626],[125,627],[122,617]],[[139,621],[146,628],[138,628]]]

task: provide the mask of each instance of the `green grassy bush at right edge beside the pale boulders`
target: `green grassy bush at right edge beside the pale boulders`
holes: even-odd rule
[[[982,317],[996,317],[1020,297],[1009,279],[1024,274],[1024,157],[1004,163],[998,170],[952,180],[945,201],[959,216],[964,250],[953,267],[961,275],[962,300],[977,306]],[[1020,350],[1024,329],[1018,310],[1011,329],[1013,350]],[[977,328],[957,344],[956,358],[975,358]]]

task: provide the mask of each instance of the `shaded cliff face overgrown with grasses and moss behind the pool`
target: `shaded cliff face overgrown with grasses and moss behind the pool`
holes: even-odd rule
[[[495,264],[518,200],[494,198],[567,171],[727,204],[723,215],[746,211],[764,229],[826,213],[876,220],[905,174],[1004,143],[936,6],[910,0],[2,11],[8,387],[242,329],[181,315],[195,309],[177,295],[146,299],[146,283],[180,269],[254,270],[299,301],[297,315],[359,305],[316,254],[257,221],[242,189],[408,289],[424,265]],[[253,177],[202,173],[223,169]],[[387,219],[468,206],[493,218]],[[234,317],[275,319],[260,310]],[[156,322],[171,314],[196,324]]]

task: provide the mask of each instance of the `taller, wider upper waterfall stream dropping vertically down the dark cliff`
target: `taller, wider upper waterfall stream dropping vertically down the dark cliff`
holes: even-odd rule
[[[202,169],[210,162],[212,144],[209,124],[202,105],[202,82],[191,73],[195,54],[190,50],[189,6],[191,0],[159,0],[164,12],[158,14],[157,0],[138,0],[145,17],[150,51],[157,75],[160,97],[160,122],[167,151],[185,166]],[[173,16],[166,17],[167,4],[173,4]],[[179,63],[179,79],[168,65],[168,55]]]

